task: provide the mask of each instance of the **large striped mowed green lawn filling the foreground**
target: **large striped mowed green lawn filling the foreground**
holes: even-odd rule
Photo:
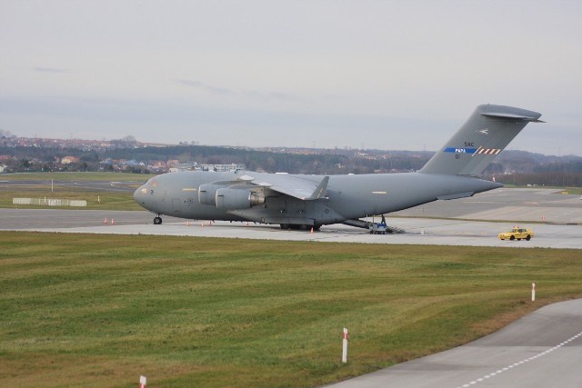
[[[140,374],[311,387],[582,296],[579,250],[15,232],[0,245],[0,385],[13,387],[135,387]]]

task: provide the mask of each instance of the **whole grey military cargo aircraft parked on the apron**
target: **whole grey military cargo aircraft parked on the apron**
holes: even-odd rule
[[[190,220],[280,224],[318,230],[325,224],[368,228],[361,218],[437,200],[472,196],[502,184],[479,179],[487,164],[541,114],[483,104],[416,173],[301,175],[251,171],[161,174],[135,190],[135,201],[156,214]]]

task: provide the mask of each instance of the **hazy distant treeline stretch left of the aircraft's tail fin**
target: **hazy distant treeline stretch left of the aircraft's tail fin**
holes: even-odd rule
[[[198,164],[245,164],[249,170],[289,174],[373,174],[375,172],[414,171],[422,167],[431,153],[424,157],[397,154],[390,158],[358,157],[344,150],[318,150],[310,154],[267,152],[244,148],[205,145],[176,145],[167,147],[124,148],[104,151],[55,149],[39,147],[0,147],[0,155],[10,155],[18,164],[31,168],[30,161],[56,163],[65,156],[78,157],[84,169],[95,169],[106,159],[136,162],[194,161]],[[17,167],[15,167],[17,169]],[[135,170],[135,168],[134,168]],[[132,171],[138,172],[138,171]]]

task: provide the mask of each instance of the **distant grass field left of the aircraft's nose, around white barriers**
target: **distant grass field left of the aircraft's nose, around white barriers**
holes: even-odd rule
[[[23,182],[22,185],[0,184],[0,207],[23,209],[77,209],[77,210],[143,210],[135,203],[133,193],[141,184],[153,175],[147,174],[118,174],[118,173],[31,173],[5,174],[0,180],[13,183]],[[34,182],[34,184],[30,184]],[[95,183],[105,183],[96,185]],[[115,192],[109,190],[109,185],[124,186],[130,191]],[[13,198],[39,198],[49,200],[53,198],[68,200],[85,200],[86,207],[69,206],[35,206],[13,204]]]

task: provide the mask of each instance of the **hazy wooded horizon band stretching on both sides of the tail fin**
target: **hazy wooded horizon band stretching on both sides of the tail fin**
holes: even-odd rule
[[[248,170],[289,174],[373,174],[410,172],[420,169],[434,153],[366,150],[366,153],[344,149],[269,152],[247,148],[206,145],[175,145],[166,147],[117,148],[82,150],[49,147],[0,147],[4,157],[0,164],[7,171],[52,171],[65,156],[75,156],[80,162],[66,166],[68,171],[96,171],[107,159],[131,160],[131,172],[146,172],[152,161],[177,160],[198,164],[245,164]],[[144,166],[145,164],[145,166]],[[539,184],[582,186],[582,157],[547,156],[523,151],[504,151],[487,166],[483,177],[496,177],[506,184]]]

